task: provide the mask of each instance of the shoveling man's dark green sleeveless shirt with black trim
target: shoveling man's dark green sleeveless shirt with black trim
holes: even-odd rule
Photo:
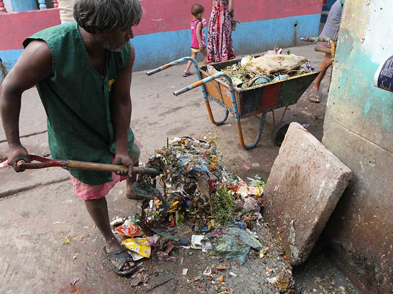
[[[37,84],[48,117],[49,147],[56,159],[111,163],[114,133],[111,88],[130,58],[130,43],[107,51],[105,76],[93,68],[78,25],[73,22],[40,31],[23,42],[43,40],[52,51],[53,74]],[[134,134],[129,129],[129,151]],[[70,170],[86,184],[112,181],[111,172]]]

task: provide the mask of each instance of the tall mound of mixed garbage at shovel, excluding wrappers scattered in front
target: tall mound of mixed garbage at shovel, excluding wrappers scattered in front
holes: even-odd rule
[[[221,161],[214,137],[168,140],[168,146],[158,149],[147,163],[161,171],[159,182],[143,175],[133,186],[141,196],[145,191],[155,196],[142,205],[141,218],[147,226],[165,223],[170,228],[188,218],[195,232],[206,233],[233,221],[252,227],[261,218],[265,184],[258,176],[250,178],[250,184],[233,179]]]

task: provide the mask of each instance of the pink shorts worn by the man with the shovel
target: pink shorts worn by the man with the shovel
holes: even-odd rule
[[[137,139],[134,139],[134,146],[130,153],[131,158],[134,159],[134,163],[137,163],[140,158],[140,143]],[[113,158],[112,158],[113,161]],[[120,176],[112,172],[113,181],[99,185],[85,184],[70,174],[72,184],[75,187],[76,193],[79,198],[84,200],[96,200],[108,195],[109,191],[116,185],[116,183],[127,179],[126,176]]]

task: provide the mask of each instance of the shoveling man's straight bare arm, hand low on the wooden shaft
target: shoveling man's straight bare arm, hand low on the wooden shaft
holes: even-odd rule
[[[135,50],[131,44],[130,61],[123,68],[116,81],[113,83],[112,89],[112,122],[114,127],[115,140],[115,164],[128,166],[129,171],[121,172],[131,176],[133,162],[128,155],[128,128],[131,122],[132,103],[130,95],[132,68],[134,66]]]

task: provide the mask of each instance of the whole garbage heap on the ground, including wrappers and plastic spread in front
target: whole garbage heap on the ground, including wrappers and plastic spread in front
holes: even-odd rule
[[[171,138],[146,164],[160,175],[140,175],[134,184],[144,198],[140,213],[111,222],[134,261],[153,254],[158,262],[175,261],[170,254],[175,247],[213,251],[240,264],[251,252],[272,257],[255,233],[264,226],[259,211],[265,184],[258,175],[246,183],[227,173],[215,139]],[[187,229],[179,233],[179,227]],[[283,277],[282,289],[289,289],[291,277]]]

